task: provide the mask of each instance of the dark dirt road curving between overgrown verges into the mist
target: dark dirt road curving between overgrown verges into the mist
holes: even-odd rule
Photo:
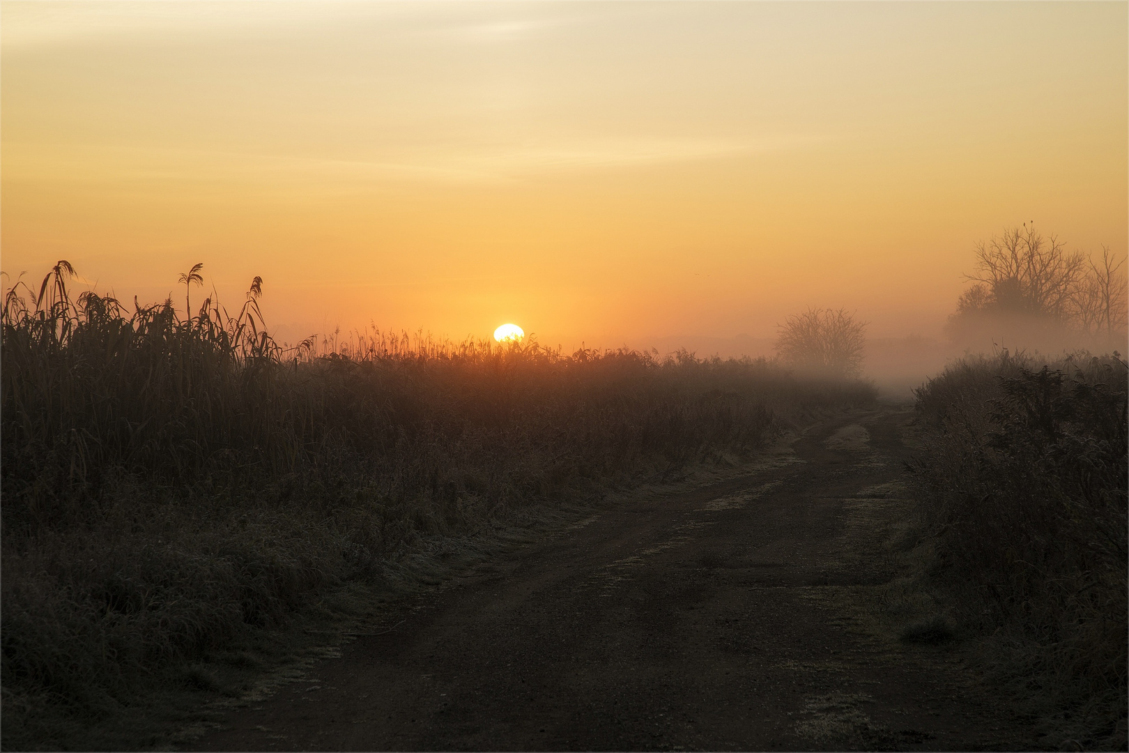
[[[1031,746],[959,645],[908,646],[867,622],[904,510],[907,420],[844,414],[752,474],[602,510],[192,747]]]

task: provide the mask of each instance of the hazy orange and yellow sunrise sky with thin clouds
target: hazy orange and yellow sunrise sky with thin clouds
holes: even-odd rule
[[[291,341],[939,336],[1004,228],[1126,254],[1127,10],[3,1],[0,269],[261,275]]]

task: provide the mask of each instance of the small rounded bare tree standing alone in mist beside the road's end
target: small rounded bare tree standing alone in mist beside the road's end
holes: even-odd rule
[[[847,309],[809,308],[779,329],[777,356],[793,368],[832,377],[863,373],[866,322],[856,322]]]

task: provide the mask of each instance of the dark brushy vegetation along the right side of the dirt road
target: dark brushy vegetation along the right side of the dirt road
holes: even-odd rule
[[[996,680],[1078,750],[1127,744],[1129,365],[1007,351],[916,391],[933,584]]]

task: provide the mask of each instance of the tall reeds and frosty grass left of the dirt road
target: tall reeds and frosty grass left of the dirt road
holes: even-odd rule
[[[8,750],[89,745],[139,678],[193,681],[174,669],[444,536],[739,463],[788,417],[875,397],[685,352],[379,332],[287,348],[257,278],[235,315],[180,316],[72,297],[71,275],[60,262],[3,305]]]

